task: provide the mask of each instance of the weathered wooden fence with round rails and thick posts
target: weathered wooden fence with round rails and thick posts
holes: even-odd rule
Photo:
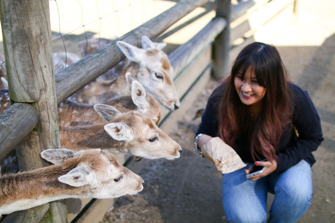
[[[228,75],[232,59],[254,41],[255,31],[274,17],[291,13],[296,1],[247,0],[231,5],[230,0],[216,0],[216,16],[168,55],[181,107],[173,112],[163,110],[159,127],[168,134],[210,76],[221,79]],[[206,2],[180,1],[116,41],[141,47],[143,35],[159,39],[168,28]],[[0,1],[0,14],[12,104],[0,115],[0,160],[16,147],[20,170],[34,169],[47,165],[40,158],[41,151],[60,148],[57,105],[117,65],[124,55],[113,41],[54,74],[48,0]],[[134,162],[127,156],[118,159],[134,172],[139,172],[147,162]],[[1,222],[39,222],[43,217],[53,222],[98,222],[114,201],[82,199],[75,211],[71,205],[65,205],[69,202],[73,205],[76,200],[17,211]]]

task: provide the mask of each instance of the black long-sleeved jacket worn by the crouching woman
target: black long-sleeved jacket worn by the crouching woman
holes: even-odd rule
[[[217,94],[217,92],[222,92],[222,86],[223,84],[219,85],[209,97],[196,134],[218,136],[217,108],[222,95]],[[279,145],[276,148],[276,172],[285,171],[302,159],[312,166],[315,158],[311,152],[315,151],[323,140],[320,118],[307,91],[291,83],[289,88],[293,95],[294,105],[292,124],[297,129],[299,137],[296,136],[289,125],[284,128]],[[241,135],[235,144],[234,149],[242,160],[253,163],[248,133]]]

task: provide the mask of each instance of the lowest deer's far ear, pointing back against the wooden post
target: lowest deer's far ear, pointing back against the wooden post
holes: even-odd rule
[[[43,159],[57,164],[62,163],[65,159],[77,157],[81,153],[83,153],[83,150],[76,152],[68,149],[46,149],[41,152],[41,156]]]

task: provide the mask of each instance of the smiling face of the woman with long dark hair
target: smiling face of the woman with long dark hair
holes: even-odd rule
[[[234,78],[236,91],[245,105],[257,105],[264,98],[266,88],[258,84],[256,74],[250,66],[244,78],[237,74]]]

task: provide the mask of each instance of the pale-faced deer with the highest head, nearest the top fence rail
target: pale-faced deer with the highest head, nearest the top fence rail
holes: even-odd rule
[[[83,88],[78,94],[73,95],[72,100],[96,104],[130,95],[126,80],[126,73],[130,72],[166,109],[178,109],[180,101],[173,82],[173,68],[168,56],[162,51],[166,44],[154,44],[146,36],[143,36],[141,41],[143,49],[117,41],[118,47],[130,61],[129,65],[114,79],[96,80],[91,83],[90,87]]]

